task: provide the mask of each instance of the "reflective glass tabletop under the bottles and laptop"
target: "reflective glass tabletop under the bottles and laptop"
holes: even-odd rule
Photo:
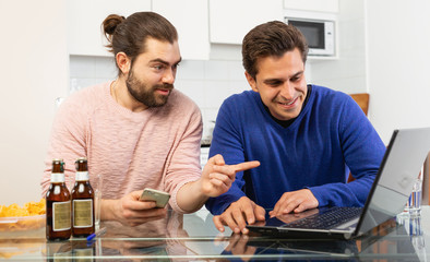
[[[418,218],[391,221],[363,238],[351,241],[279,239],[220,234],[206,210],[168,217],[138,227],[101,223],[107,233],[85,239],[47,242],[36,238],[0,239],[0,260],[64,261],[248,261],[248,260],[365,260],[426,261],[430,258],[430,207]]]

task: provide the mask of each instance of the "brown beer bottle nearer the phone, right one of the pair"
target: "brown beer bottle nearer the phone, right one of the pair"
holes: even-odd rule
[[[87,237],[95,231],[94,190],[89,184],[86,158],[77,158],[75,167],[76,178],[72,189],[72,234],[73,237]]]

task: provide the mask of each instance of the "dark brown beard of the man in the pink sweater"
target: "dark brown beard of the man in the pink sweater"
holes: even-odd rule
[[[146,84],[140,82],[136,78],[134,78],[132,70],[130,71],[129,76],[126,80],[127,90],[129,91],[130,95],[136,99],[138,102],[142,103],[147,107],[160,107],[166,105],[167,99],[169,98],[171,92],[167,95],[159,95],[155,94],[155,91],[158,88],[164,90],[172,90],[172,84],[162,84],[162,85],[154,85],[152,87],[147,86]]]

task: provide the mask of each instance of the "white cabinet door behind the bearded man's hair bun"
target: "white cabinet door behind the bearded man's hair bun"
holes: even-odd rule
[[[101,23],[109,14],[151,11],[151,0],[67,0],[69,55],[111,56]]]

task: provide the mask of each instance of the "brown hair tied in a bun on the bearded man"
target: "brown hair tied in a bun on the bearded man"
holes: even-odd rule
[[[175,26],[162,15],[154,12],[138,12],[124,16],[108,15],[101,23],[103,32],[109,44],[108,50],[117,56],[124,52],[133,64],[134,59],[145,52],[145,41],[152,37],[172,44],[178,40]]]

